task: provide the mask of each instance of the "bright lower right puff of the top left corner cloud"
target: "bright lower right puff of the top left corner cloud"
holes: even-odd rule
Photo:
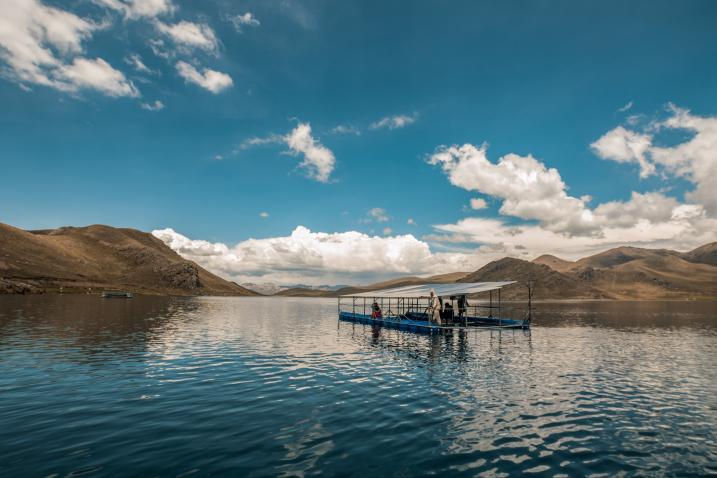
[[[139,96],[132,82],[102,58],[75,58],[60,68],[60,74],[78,88],[94,89],[107,96]]]

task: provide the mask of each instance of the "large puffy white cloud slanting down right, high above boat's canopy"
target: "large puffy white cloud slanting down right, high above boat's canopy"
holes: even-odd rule
[[[486,149],[471,144],[441,147],[429,163],[441,166],[454,186],[503,199],[501,214],[535,219],[547,229],[572,235],[598,232],[586,198],[569,196],[557,169],[512,153],[492,163]]]

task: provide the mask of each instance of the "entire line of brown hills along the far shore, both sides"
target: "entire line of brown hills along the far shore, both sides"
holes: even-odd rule
[[[173,295],[336,297],[425,283],[516,280],[506,299],[715,299],[717,242],[681,253],[618,247],[577,261],[543,255],[533,261],[505,257],[474,272],[398,277],[366,286],[247,284],[243,287],[180,257],[161,240],[135,229],[109,226],[24,231],[0,224],[0,293],[97,292],[123,289]],[[252,290],[252,286],[256,289]]]

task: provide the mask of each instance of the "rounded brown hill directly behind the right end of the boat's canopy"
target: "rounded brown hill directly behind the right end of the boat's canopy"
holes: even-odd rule
[[[504,299],[527,298],[526,282],[535,281],[536,299],[608,299],[609,294],[593,287],[589,283],[562,274],[545,264],[536,264],[512,257],[490,262],[479,270],[468,274],[458,282],[518,281],[505,287]]]

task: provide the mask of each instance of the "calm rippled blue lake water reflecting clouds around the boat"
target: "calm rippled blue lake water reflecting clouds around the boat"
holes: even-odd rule
[[[0,297],[2,476],[694,476],[716,443],[717,303],[431,338],[334,300]]]

